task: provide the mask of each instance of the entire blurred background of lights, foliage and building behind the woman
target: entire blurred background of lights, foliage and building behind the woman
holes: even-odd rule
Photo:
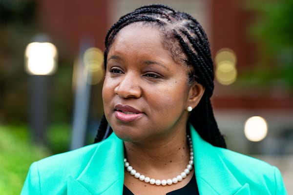
[[[20,194],[33,161],[93,142],[105,34],[159,2],[208,34],[228,148],[277,166],[293,193],[293,0],[0,0],[0,192]]]

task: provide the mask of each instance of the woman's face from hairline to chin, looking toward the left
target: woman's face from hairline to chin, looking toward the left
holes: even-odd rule
[[[156,28],[124,27],[109,49],[103,86],[105,116],[115,134],[148,142],[185,131],[187,77],[188,67],[174,62]]]

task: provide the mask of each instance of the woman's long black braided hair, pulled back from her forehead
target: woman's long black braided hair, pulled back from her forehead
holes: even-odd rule
[[[161,33],[164,48],[171,52],[175,62],[190,67],[189,84],[196,81],[205,87],[203,97],[191,111],[188,122],[204,140],[214,146],[226,148],[210,102],[214,89],[214,71],[209,41],[202,26],[187,13],[176,11],[163,4],[142,6],[122,16],[106,34],[105,68],[108,51],[116,35],[122,28],[135,22],[155,26]],[[104,115],[95,137],[95,143],[112,133],[112,129],[107,127],[108,122]]]

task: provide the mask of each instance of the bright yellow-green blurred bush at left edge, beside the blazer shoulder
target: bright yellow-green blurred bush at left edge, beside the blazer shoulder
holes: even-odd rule
[[[29,166],[51,153],[34,145],[26,127],[0,126],[0,192],[19,195]]]

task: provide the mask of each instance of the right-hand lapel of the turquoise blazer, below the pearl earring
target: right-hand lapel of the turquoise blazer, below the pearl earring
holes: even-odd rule
[[[204,141],[190,125],[194,151],[194,169],[201,195],[250,195],[249,185],[242,186],[221,156],[222,150]]]

